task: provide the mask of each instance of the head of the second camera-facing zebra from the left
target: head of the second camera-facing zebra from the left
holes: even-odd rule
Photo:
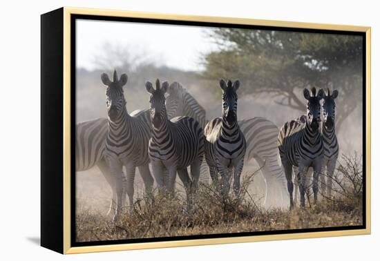
[[[151,119],[154,128],[160,128],[162,122],[167,119],[167,108],[165,107],[165,93],[169,84],[167,81],[160,86],[160,80],[155,80],[155,89],[150,81],[146,81],[145,88],[151,93],[149,103],[151,104]]]

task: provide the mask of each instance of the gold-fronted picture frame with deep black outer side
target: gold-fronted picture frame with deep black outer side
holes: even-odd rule
[[[137,242],[128,244],[104,244],[96,246],[86,247],[73,247],[71,244],[72,233],[72,215],[70,213],[73,204],[73,194],[71,190],[71,134],[73,130],[73,122],[71,120],[72,111],[72,86],[73,79],[71,77],[73,68],[71,64],[72,52],[72,17],[74,15],[88,15],[93,17],[131,17],[139,19],[164,19],[169,21],[192,21],[192,22],[207,22],[207,23],[228,23],[231,25],[249,25],[249,26],[274,26],[276,28],[298,28],[298,29],[316,29],[316,30],[339,30],[348,32],[362,32],[365,34],[365,228],[363,229],[348,229],[340,231],[318,231],[318,232],[306,232],[306,233],[285,233],[275,235],[243,235],[233,238],[205,238],[194,240],[170,240],[159,242]],[[151,248],[164,248],[164,247],[184,247],[184,246],[196,246],[205,244],[227,244],[227,243],[240,243],[240,242],[256,242],[267,240],[289,240],[300,238],[321,238],[321,237],[333,237],[341,235],[363,235],[370,234],[371,231],[371,205],[370,205],[370,147],[371,147],[371,117],[370,117],[370,66],[371,66],[371,28],[364,26],[345,26],[345,25],[332,25],[324,23],[301,23],[292,21],[272,21],[272,20],[259,20],[259,19],[243,19],[243,18],[231,18],[231,17],[203,17],[193,15],[179,15],[179,14],[158,14],[151,12],[131,12],[121,10],[99,10],[99,9],[87,9],[87,8],[60,8],[59,10],[43,14],[41,16],[41,128],[44,138],[41,140],[42,149],[42,165],[41,169],[41,245],[49,249],[53,249],[60,253],[88,253],[99,251],[120,251],[130,249],[151,249]],[[55,27],[57,23],[57,27]],[[46,41],[51,41],[51,37],[55,34],[60,34],[59,39],[54,41],[60,42],[61,40],[61,54],[57,54],[59,50],[48,50]],[[61,40],[60,40],[61,39]],[[54,43],[54,42],[53,42]],[[52,44],[53,44],[52,43]],[[61,63],[61,68],[51,68],[52,65],[45,65],[51,59],[51,56],[56,57],[56,63]],[[49,68],[50,67],[50,68]],[[53,66],[54,67],[54,66]],[[62,69],[62,70],[60,70]],[[55,70],[56,72],[53,72]],[[47,76],[50,75],[50,78]],[[54,77],[51,77],[54,75]],[[57,76],[55,76],[57,75]],[[61,84],[60,86],[52,86],[52,84]],[[51,88],[57,88],[52,90]],[[59,91],[57,91],[59,90]],[[55,92],[55,93],[51,93]],[[45,110],[48,110],[48,99],[51,99],[52,95],[56,95],[57,99],[61,99],[61,112],[62,117],[57,119],[61,122],[61,125],[56,126],[56,130],[61,130],[62,137],[59,139],[62,151],[59,155],[53,155],[49,153],[50,148],[48,141],[57,137],[57,133],[53,133],[55,129],[48,129],[44,122],[47,121],[48,114],[44,114]],[[50,97],[50,98],[49,98]],[[46,102],[45,102],[46,101]],[[364,102],[364,101],[363,101]],[[55,107],[53,107],[55,108]],[[46,117],[46,121],[44,119]],[[60,129],[61,128],[61,129]],[[363,136],[364,136],[363,135]],[[52,145],[53,146],[53,145]],[[59,148],[55,148],[56,150]],[[54,158],[53,158],[54,157]],[[60,158],[61,157],[61,158]],[[48,160],[53,160],[61,163],[59,166],[50,166],[46,163]],[[49,177],[56,175],[58,178]],[[50,189],[49,189],[49,188]],[[53,189],[57,189],[53,191]],[[61,197],[55,196],[61,193]],[[57,209],[51,209],[51,204],[55,200]],[[51,213],[51,212],[55,213]],[[58,211],[58,212],[57,212]],[[54,215],[53,215],[54,214]],[[57,216],[61,216],[57,220]],[[50,224],[49,220],[53,223]],[[364,220],[363,220],[364,221]],[[57,235],[57,242],[51,242]],[[61,237],[61,238],[60,238]]]

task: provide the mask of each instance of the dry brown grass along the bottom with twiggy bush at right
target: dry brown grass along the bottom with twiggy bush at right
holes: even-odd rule
[[[255,172],[244,177],[240,195],[227,199],[220,196],[216,187],[200,184],[190,211],[186,196],[180,191],[175,195],[156,191],[154,196],[139,197],[133,210],[124,211],[116,223],[82,206],[77,209],[77,241],[361,225],[362,168],[354,158],[343,157],[343,161],[336,171],[334,197],[323,198],[304,209],[267,210],[259,206],[259,199],[247,189]]]

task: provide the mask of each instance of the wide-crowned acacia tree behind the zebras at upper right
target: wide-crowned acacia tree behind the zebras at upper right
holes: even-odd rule
[[[209,79],[242,79],[250,86],[245,93],[272,93],[276,103],[302,113],[301,88],[338,88],[345,102],[337,129],[362,97],[361,37],[235,28],[218,28],[211,37],[220,50],[205,56],[203,75]]]

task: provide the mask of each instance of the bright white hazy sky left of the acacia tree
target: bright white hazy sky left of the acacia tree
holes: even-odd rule
[[[209,28],[120,21],[77,20],[77,67],[92,70],[104,46],[128,48],[143,56],[182,70],[199,70],[202,53],[216,50],[207,37]]]

